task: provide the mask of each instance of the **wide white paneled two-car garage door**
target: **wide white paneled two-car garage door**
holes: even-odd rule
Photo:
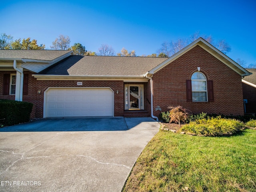
[[[44,117],[114,116],[110,88],[48,88]]]

